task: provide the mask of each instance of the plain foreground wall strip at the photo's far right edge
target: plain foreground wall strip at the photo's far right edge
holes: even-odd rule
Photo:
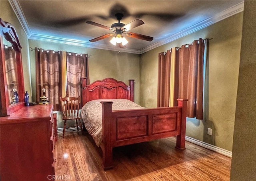
[[[244,2],[231,181],[256,180],[256,1]]]

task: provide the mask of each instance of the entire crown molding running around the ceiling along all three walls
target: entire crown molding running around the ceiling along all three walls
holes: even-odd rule
[[[242,1],[239,4],[232,6],[231,8],[228,8],[228,9],[226,9],[226,10],[224,10],[206,20],[203,20],[193,26],[190,26],[189,28],[186,28],[186,29],[170,36],[169,38],[166,38],[165,40],[156,42],[156,43],[154,43],[150,46],[147,46],[146,48],[143,48],[141,50],[134,50],[134,49],[128,49],[128,48],[120,48],[120,50],[119,50],[119,48],[113,47],[113,46],[90,44],[88,42],[84,42],[84,41],[80,41],[80,40],[71,40],[71,39],[66,39],[66,38],[45,36],[45,35],[41,35],[41,34],[33,34],[28,26],[28,22],[26,21],[26,18],[22,12],[22,9],[20,8],[20,4],[19,4],[18,0],[8,0],[8,1],[10,2],[10,5],[12,6],[12,9],[14,10],[14,13],[16,14],[22,28],[24,29],[26,35],[28,36],[28,39],[40,40],[40,41],[46,41],[46,42],[54,42],[54,43],[60,43],[60,44],[68,44],[68,45],[74,45],[74,46],[82,46],[82,47],[86,47],[86,48],[96,48],[96,49],[103,49],[103,50],[126,52],[126,53],[132,53],[132,54],[143,54],[145,52],[148,52],[149,50],[152,50],[154,48],[157,48],[159,46],[162,46],[164,44],[167,44],[169,42],[177,40],[178,38],[181,38],[183,36],[186,36],[188,34],[191,34],[193,32],[201,30],[202,28],[210,26],[216,22],[224,20],[225,18],[233,16],[233,15],[235,15],[239,12],[242,12],[244,10],[244,1]]]

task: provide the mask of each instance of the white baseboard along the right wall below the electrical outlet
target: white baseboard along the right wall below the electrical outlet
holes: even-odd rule
[[[198,140],[198,139],[194,139],[194,138],[192,138],[192,137],[186,136],[185,139],[186,139],[186,141],[188,141],[188,142],[190,142],[190,143],[194,143],[194,144],[199,145],[199,146],[201,146],[201,147],[204,147],[204,148],[210,149],[210,150],[212,150],[212,151],[215,151],[216,153],[220,153],[220,154],[222,154],[222,155],[225,155],[225,156],[227,156],[227,157],[232,158],[232,151],[228,151],[228,150],[226,150],[226,149],[223,149],[223,148],[220,148],[220,147],[216,147],[216,146],[214,146],[214,145],[211,145],[211,144],[209,144],[209,143],[205,143],[205,142],[203,142],[203,141],[200,141],[200,140]]]

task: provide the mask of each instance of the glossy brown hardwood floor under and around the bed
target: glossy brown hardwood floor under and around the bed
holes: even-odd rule
[[[102,151],[87,131],[58,133],[56,180],[66,181],[229,181],[231,159],[176,137],[113,149],[114,168],[104,171]]]

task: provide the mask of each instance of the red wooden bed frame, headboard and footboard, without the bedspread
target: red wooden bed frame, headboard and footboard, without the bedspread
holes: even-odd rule
[[[130,85],[113,78],[87,85],[82,78],[82,105],[95,99],[134,101],[134,80]],[[112,111],[112,101],[102,103],[102,143],[104,170],[113,168],[113,147],[177,136],[176,149],[185,149],[186,107],[188,99],[177,99],[177,107]]]

